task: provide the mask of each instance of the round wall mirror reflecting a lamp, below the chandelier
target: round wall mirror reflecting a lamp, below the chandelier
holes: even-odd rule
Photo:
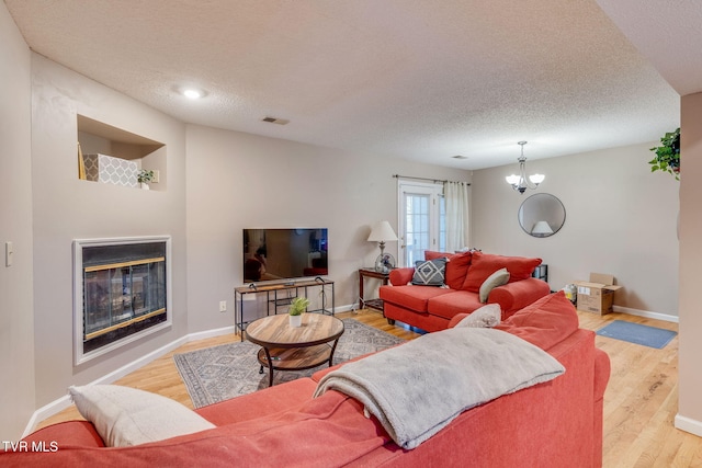
[[[550,237],[561,230],[566,221],[563,203],[548,193],[537,193],[519,207],[519,225],[533,237]]]

